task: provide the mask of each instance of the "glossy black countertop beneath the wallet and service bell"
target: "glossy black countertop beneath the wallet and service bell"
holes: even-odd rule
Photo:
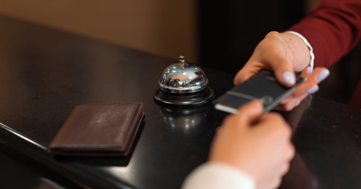
[[[161,71],[176,60],[5,16],[0,25],[0,141],[19,161],[83,187],[139,189],[179,188],[206,161],[227,114],[210,104],[172,108],[153,101]],[[232,87],[233,75],[202,68],[216,96]],[[75,106],[112,102],[144,102],[146,117],[130,156],[46,152]],[[309,96],[282,114],[293,127],[297,155],[281,188],[361,187],[360,108]]]

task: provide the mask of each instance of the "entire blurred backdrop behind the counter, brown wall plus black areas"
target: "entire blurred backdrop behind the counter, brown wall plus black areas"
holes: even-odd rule
[[[0,14],[235,74],[270,31],[320,0],[0,0]],[[360,45],[330,68],[317,96],[344,103],[360,80]]]

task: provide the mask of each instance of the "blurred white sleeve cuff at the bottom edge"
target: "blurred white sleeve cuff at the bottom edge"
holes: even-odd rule
[[[222,163],[204,163],[183,181],[182,189],[255,189],[254,179],[241,169]]]

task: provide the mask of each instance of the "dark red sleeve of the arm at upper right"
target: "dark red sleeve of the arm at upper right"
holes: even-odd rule
[[[329,67],[361,37],[361,0],[322,0],[289,31],[303,35],[313,47],[315,66]]]

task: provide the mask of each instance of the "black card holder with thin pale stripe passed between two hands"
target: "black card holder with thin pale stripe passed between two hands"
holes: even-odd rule
[[[214,100],[214,108],[223,112],[236,113],[244,103],[260,99],[264,105],[264,112],[269,112],[305,80],[300,78],[300,74],[296,76],[296,84],[287,88],[277,82],[272,71],[261,70]]]

